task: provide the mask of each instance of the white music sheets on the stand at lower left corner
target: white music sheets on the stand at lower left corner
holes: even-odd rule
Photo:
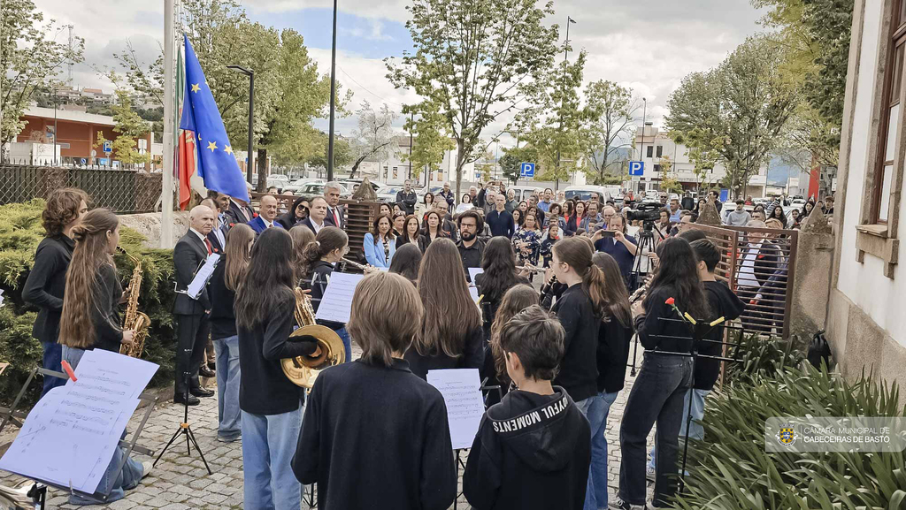
[[[35,404],[0,469],[93,494],[139,395],[158,365],[116,352],[86,351],[77,381]]]

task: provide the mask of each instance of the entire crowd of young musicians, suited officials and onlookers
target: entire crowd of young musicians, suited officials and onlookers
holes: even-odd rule
[[[690,210],[671,201],[660,212],[644,298],[631,303],[641,254],[627,211],[597,199],[554,202],[550,189],[517,202],[500,182],[471,188],[458,205],[445,186],[419,205],[407,182],[397,202],[378,207],[364,237],[366,276],[349,322],[319,321],[342,339],[346,362],[323,370],[306,395],[281,360],[320,353],[313,337],[290,338],[297,288],[317,311],[333,272],[360,255],[350,254],[340,190],[328,183],[323,196],[298,197],[282,215],[271,195],[255,210],[211,192],[190,210],[173,252],[178,291],[208,256],[222,257],[198,296],[177,294],[174,401],[212,397],[199,374],[213,365],[217,440],[242,441],[246,508],[296,510],[302,485],[314,483],[320,508],[447,508],[457,467],[444,400],[426,379],[454,368],[477,369],[500,388],[486,395],[463,478],[475,508],[641,508],[647,477],[650,505],[670,501],[685,417],[701,419],[718,373],[717,361],[692,369],[682,317],[745,313],[769,284],[759,280],[769,262],[761,255],[780,251],[769,238],[748,239],[740,300],[715,277],[718,246],[689,227],[705,202]],[[716,193],[706,200],[719,206]],[[120,351],[134,338],[120,327],[125,296],[112,258],[119,221],[89,204],[82,191],[62,189],[43,212],[47,237],[24,297],[41,309],[34,336],[46,368],[59,370],[61,360],[75,367],[84,351]],[[768,221],[779,207],[766,210]],[[479,270],[474,282],[470,268]],[[541,293],[531,285],[539,273]],[[756,290],[744,284],[749,276]],[[720,352],[721,328],[708,332],[702,353]],[[644,361],[622,418],[619,493],[609,497],[604,428],[635,335]],[[208,341],[214,355],[206,361]],[[62,383],[48,378],[44,392]],[[696,427],[690,437],[700,437]],[[149,469],[129,458],[105,488],[122,497]]]

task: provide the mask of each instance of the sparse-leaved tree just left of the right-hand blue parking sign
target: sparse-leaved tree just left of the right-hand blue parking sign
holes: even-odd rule
[[[639,101],[630,88],[604,80],[588,84],[585,101],[583,153],[588,177],[601,185],[605,176],[622,172],[626,158],[620,149],[630,147],[635,137]]]

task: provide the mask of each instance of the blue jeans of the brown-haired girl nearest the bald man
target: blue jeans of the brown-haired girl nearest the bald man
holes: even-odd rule
[[[217,360],[217,438],[235,440],[242,435],[239,422],[239,337],[214,341]]]

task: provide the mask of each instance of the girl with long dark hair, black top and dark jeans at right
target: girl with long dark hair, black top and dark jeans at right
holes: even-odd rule
[[[620,428],[620,505],[645,505],[645,445],[655,422],[658,462],[653,505],[666,506],[676,493],[683,396],[692,384],[692,361],[683,355],[689,352],[691,332],[682,314],[699,320],[710,318],[696,255],[689,243],[671,237],[660,243],[658,252],[658,271],[635,318],[645,361],[632,385]]]

